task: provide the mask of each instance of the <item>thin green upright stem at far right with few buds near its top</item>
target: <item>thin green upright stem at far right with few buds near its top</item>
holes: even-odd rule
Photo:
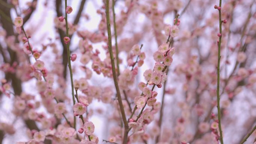
[[[218,109],[218,121],[219,121],[219,131],[220,131],[220,143],[223,144],[223,137],[222,137],[222,129],[221,129],[221,111],[220,111],[220,45],[221,45],[221,38],[222,38],[222,20],[221,20],[221,0],[219,3],[219,29],[220,32],[219,42],[218,42],[218,64],[217,64],[217,109]]]

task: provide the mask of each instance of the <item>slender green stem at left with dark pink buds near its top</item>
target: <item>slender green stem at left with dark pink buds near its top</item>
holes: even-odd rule
[[[65,0],[65,9],[67,9],[67,0]],[[67,12],[65,11],[65,22],[66,22],[66,36],[68,35],[68,22],[67,22]],[[69,44],[67,43],[67,59],[68,59],[68,69],[70,72],[70,80],[71,80],[71,89],[72,89],[72,99],[73,99],[73,105],[76,103],[74,99],[74,85],[73,85],[73,74],[72,74],[72,68],[71,68],[71,62],[70,62],[70,50],[69,50]],[[74,129],[76,129],[76,116],[74,116]]]

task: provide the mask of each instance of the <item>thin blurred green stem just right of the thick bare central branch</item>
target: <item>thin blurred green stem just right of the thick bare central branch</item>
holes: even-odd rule
[[[114,31],[115,31],[115,48],[116,48],[116,68],[118,71],[118,76],[120,75],[119,70],[119,58],[118,58],[118,43],[117,43],[117,33],[116,33],[116,14],[115,14],[115,0],[112,1],[112,11],[113,11],[113,21],[114,21]]]

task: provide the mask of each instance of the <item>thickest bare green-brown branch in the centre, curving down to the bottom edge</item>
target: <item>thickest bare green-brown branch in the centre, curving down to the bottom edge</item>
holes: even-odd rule
[[[109,49],[109,55],[110,55],[110,60],[111,60],[111,65],[112,65],[112,73],[113,73],[113,79],[116,87],[116,95],[118,98],[118,104],[120,107],[120,111],[122,114],[122,119],[124,122],[124,139],[123,139],[123,144],[127,144],[128,142],[128,122],[125,117],[125,111],[124,111],[124,105],[122,103],[122,98],[121,98],[121,93],[119,90],[118,86],[118,80],[116,76],[116,70],[115,70],[115,61],[114,61],[114,56],[113,56],[113,51],[112,51],[112,39],[111,39],[111,28],[110,28],[110,18],[109,18],[109,0],[106,0],[106,19],[107,19],[107,35],[108,35],[108,49]]]

